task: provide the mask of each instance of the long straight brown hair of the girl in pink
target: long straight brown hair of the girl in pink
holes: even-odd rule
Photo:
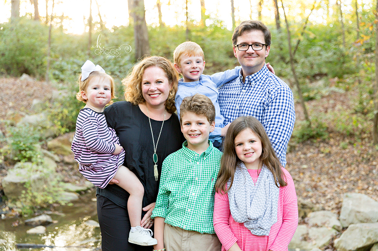
[[[236,155],[234,140],[240,132],[246,129],[251,129],[252,132],[261,140],[262,152],[260,161],[262,164],[272,172],[274,179],[280,184],[280,186],[286,186],[287,184],[284,180],[284,172],[281,169],[280,160],[276,156],[264,127],[255,117],[242,116],[235,119],[227,129],[226,137],[223,140],[221,169],[218,173],[215,190],[217,192],[222,191],[227,193],[231,188],[234,181],[236,167],[241,162]],[[226,184],[229,178],[231,178],[231,184],[226,189]]]

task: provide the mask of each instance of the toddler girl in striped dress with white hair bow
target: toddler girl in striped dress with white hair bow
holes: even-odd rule
[[[79,171],[99,188],[106,187],[112,179],[117,180],[117,185],[130,194],[127,201],[131,223],[128,241],[141,246],[156,245],[158,241],[151,237],[151,229],[140,226],[143,185],[132,171],[123,166],[125,151],[115,131],[106,124],[104,108],[115,98],[114,80],[90,60],[81,69],[76,98],[86,105],[77,117],[71,145]]]

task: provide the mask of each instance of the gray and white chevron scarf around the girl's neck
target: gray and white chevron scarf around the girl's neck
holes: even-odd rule
[[[228,180],[229,187],[231,179]],[[235,170],[234,182],[228,191],[230,211],[235,222],[244,223],[254,235],[269,235],[270,228],[277,222],[278,195],[272,172],[261,168],[256,184],[244,163]]]

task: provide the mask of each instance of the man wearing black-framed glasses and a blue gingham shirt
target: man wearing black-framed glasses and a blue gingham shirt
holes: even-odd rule
[[[234,55],[241,65],[239,78],[219,89],[224,125],[239,116],[254,116],[264,126],[281,165],[295,122],[293,93],[265,65],[271,35],[260,21],[244,21],[232,35]]]

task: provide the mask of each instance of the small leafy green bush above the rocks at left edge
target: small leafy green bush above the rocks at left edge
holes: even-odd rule
[[[1,149],[1,154],[12,156],[16,162],[42,162],[39,147],[40,131],[28,124],[8,126],[7,144],[9,148]],[[6,152],[3,152],[6,151]]]

